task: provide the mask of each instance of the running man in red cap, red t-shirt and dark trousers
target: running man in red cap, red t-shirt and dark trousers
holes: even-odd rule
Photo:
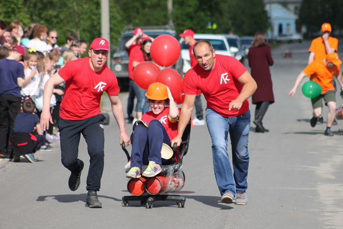
[[[109,54],[108,41],[96,38],[88,51],[89,57],[70,61],[46,83],[44,104],[41,114],[43,130],[52,124],[49,102],[54,86],[66,82],[65,94],[61,102],[60,132],[62,164],[71,171],[69,188],[75,191],[80,185],[84,163],[78,159],[80,134],[86,140],[90,166],[87,177],[87,204],[91,208],[101,207],[97,191],[104,166],[104,132],[100,113],[100,100],[106,91],[111,102],[112,112],[120,129],[120,143],[130,144],[126,134],[123,105],[119,99],[119,86],[116,76],[106,66]]]

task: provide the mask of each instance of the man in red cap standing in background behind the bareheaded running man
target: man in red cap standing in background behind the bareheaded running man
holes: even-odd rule
[[[189,45],[188,51],[192,68],[197,64],[196,57],[193,53],[193,47],[196,44],[196,39],[194,39],[194,35],[195,33],[191,29],[185,29],[185,31],[183,31],[183,33],[180,34],[180,37],[183,37],[185,44]],[[193,126],[205,125],[205,121],[203,120],[204,114],[201,103],[201,95],[196,96],[196,102],[194,105],[196,107],[196,118],[194,118],[192,121]]]

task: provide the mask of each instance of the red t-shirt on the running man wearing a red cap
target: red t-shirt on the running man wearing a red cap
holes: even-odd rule
[[[61,102],[60,117],[66,120],[83,120],[101,113],[103,91],[109,96],[120,92],[114,73],[106,66],[95,72],[89,57],[69,61],[58,74],[66,81]]]

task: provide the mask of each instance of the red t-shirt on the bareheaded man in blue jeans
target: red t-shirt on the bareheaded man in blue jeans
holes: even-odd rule
[[[217,54],[215,59],[216,65],[209,72],[198,64],[189,70],[185,94],[196,95],[200,89],[207,101],[207,107],[221,116],[236,117],[244,114],[249,110],[248,100],[243,102],[240,110],[229,110],[229,104],[242,91],[243,84],[237,79],[246,72],[246,68],[231,56]]]

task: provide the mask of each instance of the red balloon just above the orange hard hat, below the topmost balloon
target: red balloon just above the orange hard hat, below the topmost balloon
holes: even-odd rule
[[[171,68],[163,69],[157,74],[156,82],[160,82],[169,87],[172,93],[172,98],[176,101],[182,92],[182,79],[180,74]]]

